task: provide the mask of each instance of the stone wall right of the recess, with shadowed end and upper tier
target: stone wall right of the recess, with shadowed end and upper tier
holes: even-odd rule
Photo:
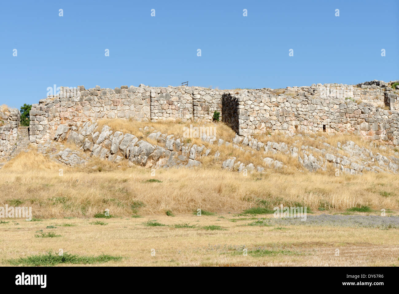
[[[223,95],[223,102],[237,101],[230,103],[238,104],[239,135],[324,131],[399,145],[398,95],[393,89],[363,84],[359,84],[359,89],[347,85],[334,87],[339,89],[318,84],[287,88],[284,93],[273,89],[230,91]],[[374,106],[377,103],[384,108]],[[224,118],[226,123],[230,120]]]

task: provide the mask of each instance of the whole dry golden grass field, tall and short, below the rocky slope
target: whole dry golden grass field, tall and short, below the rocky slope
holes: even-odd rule
[[[114,123],[107,122],[121,131],[140,132],[140,125]],[[231,130],[218,126],[218,137],[231,140]],[[154,127],[175,134],[182,130],[168,123]],[[280,136],[276,141],[284,138],[292,140]],[[300,139],[306,143],[309,138]],[[220,150],[250,156],[228,146]],[[22,152],[0,169],[0,207],[32,207],[33,220],[1,219],[0,265],[399,265],[397,225],[349,224],[345,219],[381,218],[381,209],[387,219],[397,217],[397,175],[336,177],[330,170],[308,173],[294,167],[243,176],[205,162],[195,169],[152,174],[95,158],[85,167],[66,167],[34,149]],[[269,222],[274,219],[270,211],[280,204],[306,206],[308,217],[324,213],[338,219],[308,225]],[[111,218],[104,218],[104,211]]]

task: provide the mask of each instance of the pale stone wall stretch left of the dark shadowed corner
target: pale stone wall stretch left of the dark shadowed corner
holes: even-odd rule
[[[59,125],[63,125],[63,130],[67,126],[76,131],[83,123],[101,118],[211,119],[213,111],[221,111],[223,92],[201,87],[147,87],[142,84],[115,89],[96,86],[89,90],[83,86],[61,87],[58,95],[32,105],[30,141],[39,143],[53,139]]]

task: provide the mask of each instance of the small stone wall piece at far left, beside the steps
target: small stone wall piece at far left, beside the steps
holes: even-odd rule
[[[5,160],[18,141],[21,113],[18,109],[0,108],[0,160]]]

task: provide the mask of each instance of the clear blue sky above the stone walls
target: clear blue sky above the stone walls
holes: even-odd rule
[[[0,26],[0,104],[18,108],[54,84],[233,89],[399,79],[397,0],[2,1]]]

